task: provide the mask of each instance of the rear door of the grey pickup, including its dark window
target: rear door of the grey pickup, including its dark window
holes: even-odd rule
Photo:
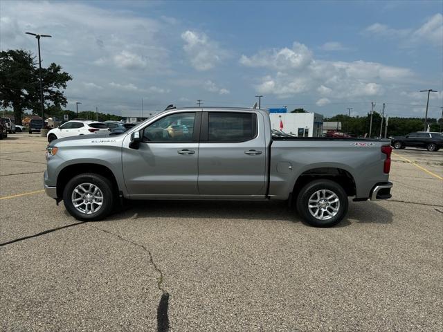
[[[199,146],[199,193],[265,194],[266,141],[260,113],[204,112]]]

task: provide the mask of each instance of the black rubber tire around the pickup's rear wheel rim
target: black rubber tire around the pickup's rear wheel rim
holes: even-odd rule
[[[311,214],[312,210],[309,209],[309,199],[311,198],[311,196],[316,194],[316,192],[321,192],[322,190],[325,190],[326,192],[332,192],[336,195],[336,198],[338,199],[338,205],[337,203],[331,204],[329,202],[325,202],[327,203],[327,207],[325,208],[325,210],[337,208],[338,211],[334,216],[331,216],[330,212],[327,212],[328,216],[326,217],[329,219],[324,220],[320,220],[315,217],[313,214]],[[297,197],[296,205],[298,214],[300,214],[302,219],[309,223],[309,225],[314,227],[332,227],[342,221],[347,213],[347,194],[345,190],[343,190],[343,187],[341,187],[341,185],[338,185],[338,183],[334,181],[330,181],[327,179],[315,180],[308,183],[307,185],[305,185],[305,187],[302,188],[302,190],[300,190],[300,193]],[[314,210],[315,209],[316,208],[314,208]],[[320,210],[319,208],[317,209]],[[321,213],[322,216],[323,214],[325,214],[325,212]],[[334,212],[332,213],[334,214]]]

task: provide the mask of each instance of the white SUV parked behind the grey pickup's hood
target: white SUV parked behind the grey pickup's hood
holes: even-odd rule
[[[72,120],[65,122],[58,128],[48,131],[48,142],[57,140],[58,138],[89,135],[91,133],[109,133],[106,124],[97,121]]]

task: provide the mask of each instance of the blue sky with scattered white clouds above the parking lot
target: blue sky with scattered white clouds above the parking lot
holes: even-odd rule
[[[430,116],[443,104],[443,1],[0,3],[0,48],[35,50],[74,80],[68,107],[122,114],[194,106]]]

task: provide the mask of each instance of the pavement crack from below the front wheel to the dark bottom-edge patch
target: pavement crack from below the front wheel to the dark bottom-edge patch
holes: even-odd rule
[[[136,216],[136,214],[134,215]],[[134,218],[133,218],[134,219]],[[147,255],[150,257],[150,264],[154,267],[154,270],[156,270],[157,273],[159,273],[159,278],[157,279],[157,288],[159,288],[159,291],[161,291],[161,298],[159,302],[159,306],[157,307],[157,332],[168,332],[169,331],[169,316],[168,316],[168,306],[169,306],[169,293],[165,291],[165,288],[161,286],[163,283],[163,272],[162,270],[155,264],[154,259],[152,259],[152,253],[150,250],[147,250],[143,244],[136,243],[134,241],[131,241],[129,239],[125,239],[119,234],[116,234],[114,232],[111,232],[109,230],[104,230],[103,228],[91,225],[90,223],[87,224],[88,226],[95,228],[96,230],[100,230],[101,232],[105,232],[107,234],[111,234],[114,237],[117,237],[118,239],[125,241],[127,243],[131,243],[133,246],[137,246],[139,248],[142,248],[147,252]]]

